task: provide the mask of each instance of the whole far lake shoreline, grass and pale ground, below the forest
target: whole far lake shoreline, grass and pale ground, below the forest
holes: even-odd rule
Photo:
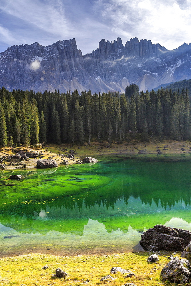
[[[112,143],[108,142],[92,142],[90,144],[81,145],[71,145],[70,144],[47,144],[42,149],[35,149],[38,152],[43,152],[44,156],[42,159],[52,159],[56,160],[57,164],[60,165],[63,159],[67,159],[69,165],[75,164],[79,159],[86,156],[88,157],[102,157],[102,156],[124,156],[125,158],[131,159],[144,159],[144,160],[182,160],[191,158],[191,142],[189,141],[171,141],[165,140],[163,142],[130,142],[130,143]],[[184,150],[181,150],[181,149]],[[25,148],[20,148],[25,149]],[[74,150],[75,158],[67,158],[66,156],[71,154],[69,150]],[[165,150],[164,150],[165,149]],[[158,152],[161,154],[158,154]],[[5,148],[5,150],[0,151],[0,157],[6,155],[15,154],[11,148]],[[61,156],[61,154],[64,155]],[[37,165],[37,160],[40,158],[31,158],[22,162],[12,159],[11,162],[5,160],[3,165],[4,170],[19,170],[23,169],[23,164],[26,164],[24,169],[34,169]]]

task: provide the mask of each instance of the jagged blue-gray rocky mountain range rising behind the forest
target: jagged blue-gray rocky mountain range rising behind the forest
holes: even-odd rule
[[[47,47],[16,45],[0,53],[0,86],[9,90],[122,92],[131,83],[146,90],[189,78],[191,44],[185,43],[168,51],[146,39],[125,45],[120,38],[113,43],[102,39],[97,50],[83,56],[70,39]]]

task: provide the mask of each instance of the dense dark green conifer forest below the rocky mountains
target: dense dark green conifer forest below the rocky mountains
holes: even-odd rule
[[[136,88],[136,86],[135,86]],[[132,88],[128,89],[129,91]],[[127,93],[127,90],[126,90]],[[129,93],[128,93],[129,94]],[[0,145],[126,140],[138,130],[159,139],[191,139],[188,90],[81,94],[0,89]]]

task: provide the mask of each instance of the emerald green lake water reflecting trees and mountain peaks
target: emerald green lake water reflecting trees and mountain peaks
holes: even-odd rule
[[[7,180],[11,174],[25,178]],[[1,171],[0,184],[4,254],[140,251],[140,235],[156,224],[191,231],[191,160],[105,157],[94,165]]]

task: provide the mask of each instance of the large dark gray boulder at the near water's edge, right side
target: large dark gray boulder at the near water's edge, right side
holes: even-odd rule
[[[141,235],[140,245],[144,250],[182,251],[191,241],[191,232],[184,229],[155,225]]]

